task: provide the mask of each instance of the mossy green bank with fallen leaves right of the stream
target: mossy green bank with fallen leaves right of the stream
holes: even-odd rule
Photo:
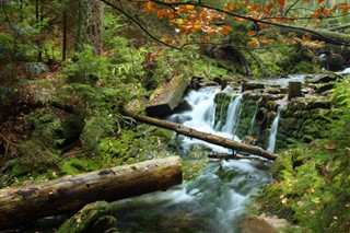
[[[276,182],[257,203],[261,211],[288,219],[306,232],[348,232],[350,228],[350,82],[331,94],[336,118],[329,118],[327,138],[300,144],[273,166]],[[291,232],[295,226],[282,229]]]

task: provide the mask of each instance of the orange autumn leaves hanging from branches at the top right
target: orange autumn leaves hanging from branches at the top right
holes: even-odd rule
[[[311,0],[303,0],[303,2],[308,3]],[[347,2],[335,4],[330,9],[325,7],[325,0],[317,0],[317,3],[319,4],[318,9],[312,14],[303,16],[322,19],[331,15],[339,9],[341,13],[347,13],[350,10]],[[236,30],[240,30],[240,33],[242,33],[241,28],[233,28],[231,26],[234,22],[244,23],[259,20],[272,23],[294,24],[295,19],[298,19],[298,15],[291,18],[281,16],[283,8],[288,9],[285,0],[271,0],[270,3],[264,2],[260,4],[244,0],[232,1],[224,4],[221,9],[205,8],[197,1],[182,4],[178,0],[160,2],[144,0],[140,4],[143,4],[145,13],[154,13],[158,19],[166,20],[168,25],[174,28],[174,33],[171,33],[172,35],[163,35],[164,42],[179,45],[184,44],[183,40],[187,42],[191,34],[196,34],[202,42],[207,42],[210,37],[229,35],[235,33]],[[261,24],[261,26],[264,25]],[[248,42],[249,46],[266,45],[275,42],[273,39],[265,37],[255,38],[255,31],[248,31],[246,35],[253,37],[250,42]]]

